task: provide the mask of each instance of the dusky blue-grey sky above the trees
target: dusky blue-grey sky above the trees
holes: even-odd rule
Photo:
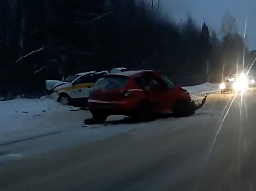
[[[177,22],[181,19],[185,21],[191,15],[198,25],[205,22],[219,36],[225,13],[228,12],[236,18],[241,35],[244,33],[247,15],[246,42],[250,50],[256,49],[256,0],[162,0],[161,6]]]

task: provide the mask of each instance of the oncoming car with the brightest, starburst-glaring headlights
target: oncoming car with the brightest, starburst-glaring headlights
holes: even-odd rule
[[[251,81],[253,82],[253,81]],[[227,91],[243,91],[248,88],[248,78],[244,74],[233,74],[224,78],[220,84],[221,93]]]

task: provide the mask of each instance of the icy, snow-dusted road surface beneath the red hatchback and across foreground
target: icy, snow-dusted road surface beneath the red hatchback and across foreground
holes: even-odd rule
[[[13,126],[1,134],[1,191],[256,190],[256,89],[243,95],[212,93],[187,118],[129,124],[111,116],[107,126],[85,128],[88,111],[41,102],[59,108],[28,107],[28,113],[20,113],[20,106],[15,115],[22,117],[13,124],[19,119],[26,128]]]

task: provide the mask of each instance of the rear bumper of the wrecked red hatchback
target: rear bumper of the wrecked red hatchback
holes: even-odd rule
[[[131,114],[136,103],[134,101],[99,101],[88,100],[88,108],[90,111],[105,111],[108,115],[129,115]]]

